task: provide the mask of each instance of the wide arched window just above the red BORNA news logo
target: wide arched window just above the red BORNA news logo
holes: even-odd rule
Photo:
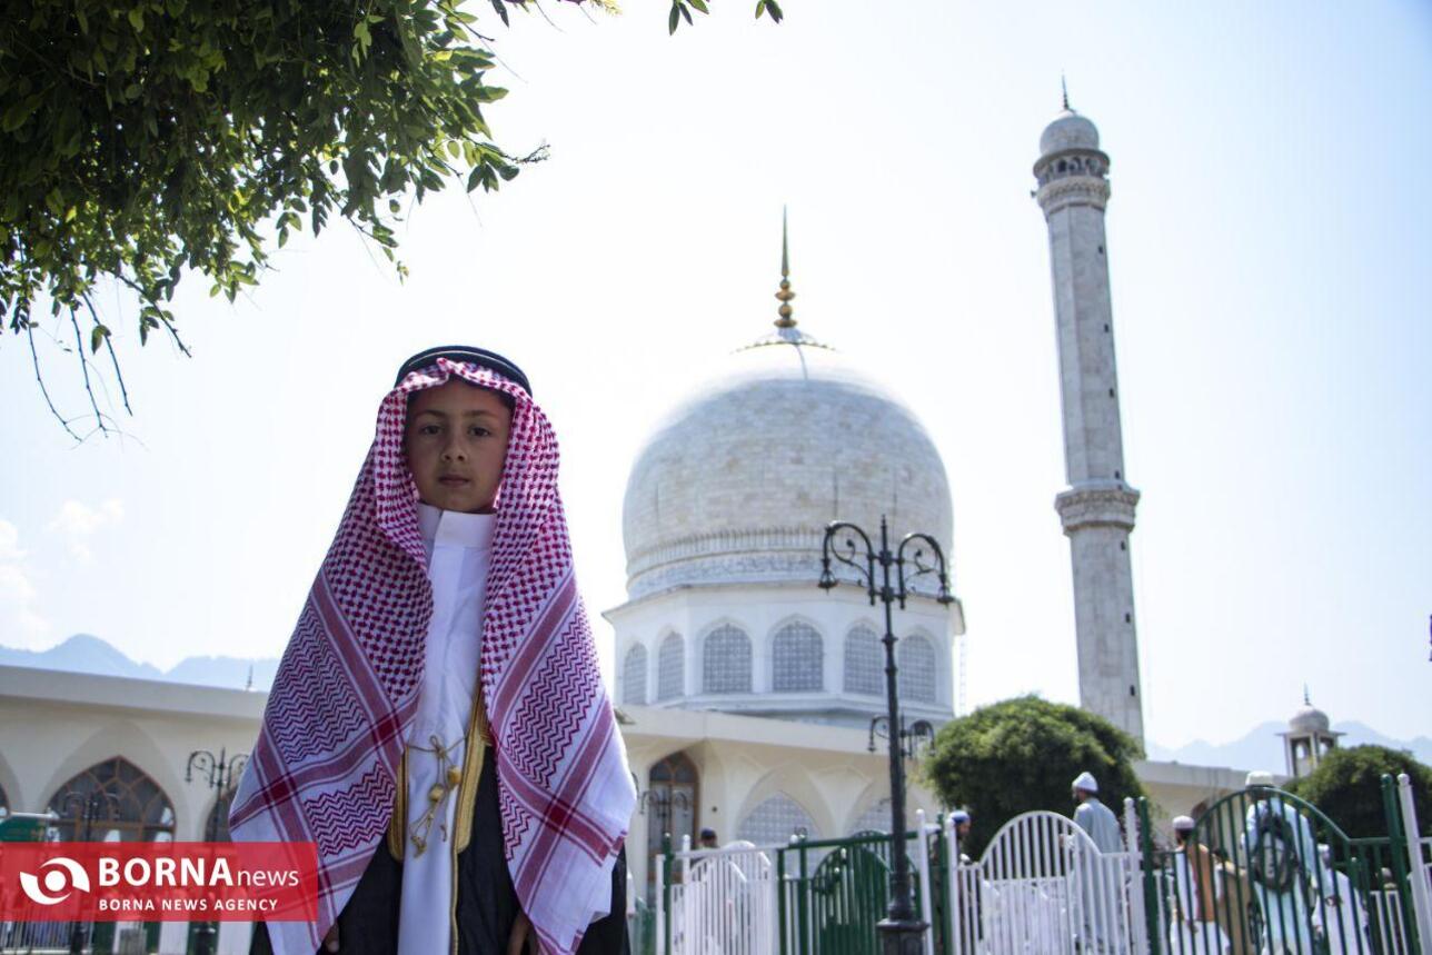
[[[54,828],[62,842],[84,838],[84,808],[96,792],[110,798],[93,802],[93,842],[173,842],[173,803],[159,783],[123,756],[95,763],[50,796],[50,812],[60,816]]]

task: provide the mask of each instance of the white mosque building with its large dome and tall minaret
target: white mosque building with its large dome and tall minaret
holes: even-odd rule
[[[1128,557],[1138,491],[1121,451],[1108,165],[1094,125],[1065,103],[1034,166],[1050,229],[1068,478],[1055,508],[1071,548],[1081,703],[1141,737]],[[627,598],[604,616],[642,793],[629,836],[637,886],[649,885],[663,830],[710,826],[722,840],[778,842],[793,830],[884,828],[889,816],[884,740],[868,749],[871,719],[885,712],[884,619],[856,586],[816,588],[822,533],[841,518],[878,534],[885,517],[892,538],[924,531],[948,546],[949,483],[915,411],[799,325],[793,296],[783,268],[773,331],[674,402],[632,464]],[[958,593],[959,558],[978,556],[945,557]],[[895,616],[895,636],[904,710],[938,726],[955,714],[965,624],[958,600],[931,593]],[[215,793],[185,782],[185,760],[198,749],[246,752],[263,700],[0,667],[0,802],[43,812],[76,780],[113,779],[132,795],[142,838],[203,838]],[[1299,743],[1309,736],[1295,732]],[[1179,763],[1137,772],[1170,813],[1243,782],[1242,772]],[[939,806],[915,787],[916,809]]]

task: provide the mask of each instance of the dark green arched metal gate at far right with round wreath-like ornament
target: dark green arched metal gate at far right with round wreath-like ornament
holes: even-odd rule
[[[1183,848],[1156,849],[1140,800],[1150,951],[1421,951],[1395,783],[1382,787],[1388,835],[1373,839],[1349,838],[1292,793],[1252,786],[1209,806]]]

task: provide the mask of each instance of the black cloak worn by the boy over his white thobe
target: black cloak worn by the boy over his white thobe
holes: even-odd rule
[[[444,852],[442,843],[432,845]],[[505,955],[507,938],[520,911],[503,850],[503,820],[497,806],[497,757],[488,747],[473,806],[473,839],[457,853],[458,955]],[[352,896],[338,913],[341,955],[394,955],[398,951],[398,911],[402,903],[402,863],[378,843]],[[533,939],[536,941],[536,938]],[[319,949],[322,951],[322,949]],[[272,955],[268,928],[253,926],[249,955]],[[581,936],[579,955],[627,955],[626,849],[611,869],[611,909]],[[447,955],[432,952],[432,955]]]

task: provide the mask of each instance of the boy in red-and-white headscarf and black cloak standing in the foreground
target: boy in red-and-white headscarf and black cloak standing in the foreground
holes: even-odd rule
[[[253,949],[624,952],[634,803],[551,427],[505,358],[420,352],[233,800],[235,839],[318,843],[318,919],[256,926]]]

